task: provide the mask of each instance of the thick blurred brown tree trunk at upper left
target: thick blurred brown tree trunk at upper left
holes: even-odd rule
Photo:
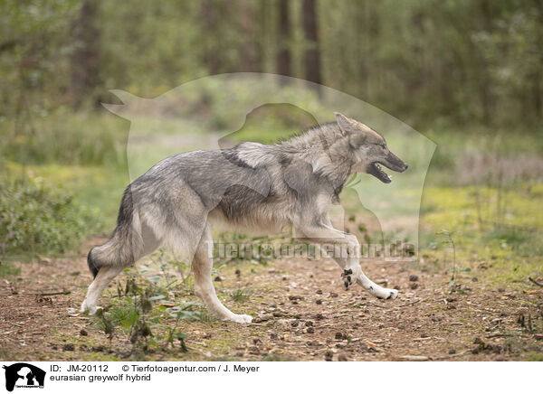
[[[71,56],[71,94],[77,107],[100,83],[100,30],[96,26],[99,5],[85,0],[79,17],[71,25],[76,49]]]

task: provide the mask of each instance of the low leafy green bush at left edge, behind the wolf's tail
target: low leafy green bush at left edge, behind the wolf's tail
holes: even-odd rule
[[[95,229],[97,212],[73,202],[40,178],[3,180],[0,189],[0,252],[62,253],[77,248]]]

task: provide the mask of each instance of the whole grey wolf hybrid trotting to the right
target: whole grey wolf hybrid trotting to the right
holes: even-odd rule
[[[335,230],[329,208],[355,173],[390,177],[380,164],[404,172],[385,139],[370,127],[336,113],[336,122],[313,127],[275,145],[246,142],[232,148],[173,155],[131,183],[120,203],[111,238],[90,249],[94,281],[81,311],[96,312],[101,292],[119,272],[160,245],[192,261],[195,294],[224,320],[250,323],[217,298],[211,279],[211,226],[280,231],[291,226],[297,239],[348,250],[331,256],[343,269],[346,288],[357,283],[373,296],[395,298],[397,291],[369,280],[359,265],[357,238]]]

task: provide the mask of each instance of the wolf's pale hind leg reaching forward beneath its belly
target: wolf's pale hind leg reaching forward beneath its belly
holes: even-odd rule
[[[219,318],[236,323],[251,323],[252,317],[250,315],[233,314],[217,297],[211,281],[211,270],[213,268],[213,260],[209,256],[211,248],[213,248],[213,239],[211,238],[209,225],[206,224],[192,262],[195,276],[195,295],[202,300],[211,313],[216,314]]]

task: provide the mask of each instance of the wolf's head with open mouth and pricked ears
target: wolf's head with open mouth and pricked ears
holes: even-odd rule
[[[380,164],[398,173],[407,169],[408,165],[388,150],[385,138],[376,131],[339,112],[335,112],[335,115],[341,134],[348,137],[348,144],[353,150],[353,172],[372,174],[379,181],[390,183],[390,176],[383,171]]]

